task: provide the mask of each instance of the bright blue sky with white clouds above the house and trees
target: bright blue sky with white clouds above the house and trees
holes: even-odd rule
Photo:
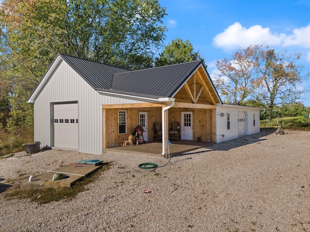
[[[265,44],[276,51],[303,54],[310,71],[310,0],[159,0],[168,15],[166,44],[189,40],[208,72],[215,61],[231,58],[239,47]],[[310,80],[304,86],[310,86]],[[310,93],[301,102],[310,106]]]

